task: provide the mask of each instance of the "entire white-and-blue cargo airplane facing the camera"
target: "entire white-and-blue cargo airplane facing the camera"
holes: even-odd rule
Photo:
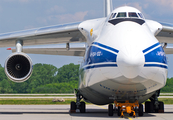
[[[0,47],[16,47],[8,48],[13,53],[5,61],[6,75],[14,82],[29,79],[33,65],[26,53],[83,56],[70,112],[85,113],[83,99],[108,104],[109,116],[114,111],[121,117],[124,112],[143,116],[143,102],[145,112],[163,113],[164,103],[158,97],[167,80],[166,54],[173,54],[167,47],[173,43],[173,25],[145,19],[130,6],[113,10],[112,1],[104,1],[103,18],[0,34]],[[85,46],[71,47],[82,42]],[[66,47],[25,48],[58,43]]]

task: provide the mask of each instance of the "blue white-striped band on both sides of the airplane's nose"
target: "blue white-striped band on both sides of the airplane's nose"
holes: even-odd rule
[[[117,54],[115,53],[118,53],[119,50],[116,50],[114,48],[111,48],[98,42],[93,42],[92,45],[94,46],[90,46],[89,50],[87,51],[87,55],[84,62],[84,66],[86,67],[84,67],[84,69],[92,69],[98,67],[117,67]],[[156,43],[146,48],[145,50],[143,50],[143,53],[145,54],[146,52],[157,47],[158,45],[160,45],[160,43]],[[115,64],[107,64],[107,62],[115,62]],[[161,67],[166,69],[168,68],[166,55],[161,46],[158,46],[158,48],[145,54],[145,63],[147,64],[145,64],[144,67]]]

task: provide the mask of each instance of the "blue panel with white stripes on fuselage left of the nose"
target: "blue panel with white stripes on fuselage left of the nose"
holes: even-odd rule
[[[96,67],[117,67],[115,64],[107,64],[107,62],[116,63],[117,54],[119,51],[103,45],[98,42],[92,43],[89,50],[87,51],[87,55],[85,58],[84,66],[98,63],[105,63],[101,65],[88,66],[87,69],[96,68]]]

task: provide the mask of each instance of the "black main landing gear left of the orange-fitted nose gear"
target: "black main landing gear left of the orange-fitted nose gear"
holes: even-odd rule
[[[80,110],[80,113],[85,113],[86,105],[85,102],[80,102],[82,99],[82,95],[77,91],[76,94],[76,102],[72,101],[70,105],[70,113],[75,113],[76,110]]]

